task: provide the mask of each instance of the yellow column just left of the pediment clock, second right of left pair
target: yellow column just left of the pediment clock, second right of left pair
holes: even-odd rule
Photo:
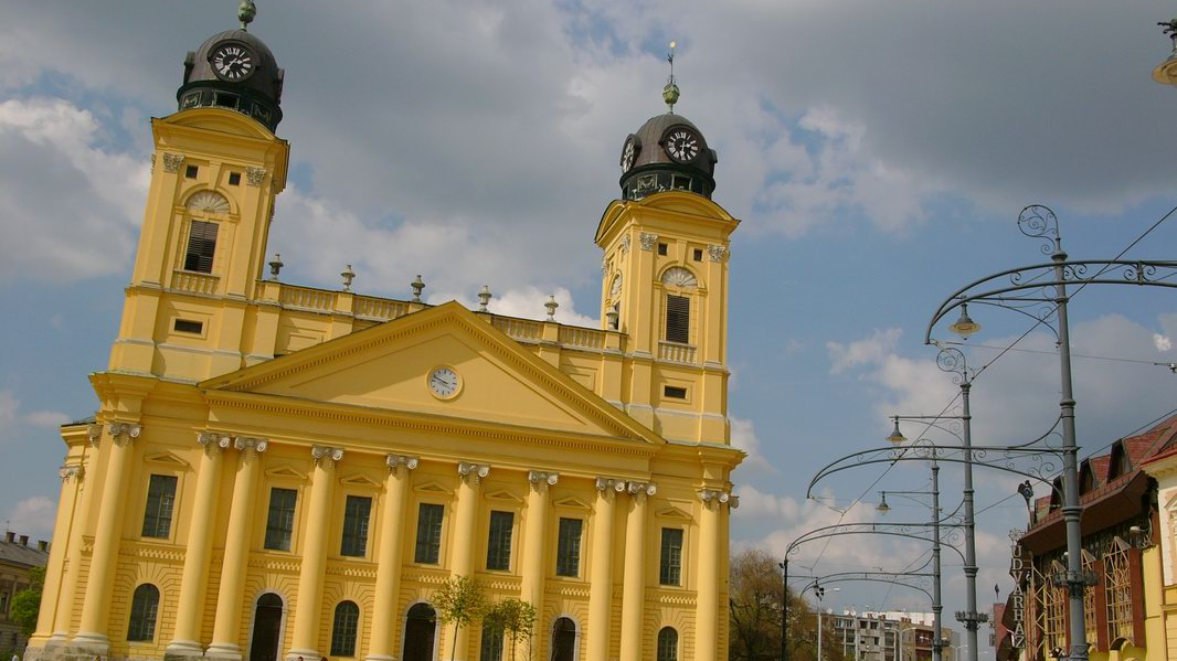
[[[375,603],[372,607],[372,636],[365,661],[392,661],[392,639],[400,619],[397,596],[400,593],[401,554],[405,548],[405,501],[408,472],[417,468],[415,456],[390,454],[388,479],[384,485],[384,515],[380,518],[380,553],[377,557]]]

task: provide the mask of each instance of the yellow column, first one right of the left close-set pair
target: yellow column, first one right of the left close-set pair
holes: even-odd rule
[[[294,637],[286,657],[319,657],[319,623],[322,613],[322,583],[327,569],[327,525],[331,521],[331,496],[335,487],[335,462],[344,458],[343,448],[313,446],[314,478],[302,535],[302,567],[298,574],[298,597],[294,602]]]

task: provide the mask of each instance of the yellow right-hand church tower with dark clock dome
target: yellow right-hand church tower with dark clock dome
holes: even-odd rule
[[[669,439],[726,445],[727,278],[739,223],[711,201],[719,160],[703,132],[673,112],[621,146],[621,199],[605,211],[601,319],[634,356],[621,406]]]

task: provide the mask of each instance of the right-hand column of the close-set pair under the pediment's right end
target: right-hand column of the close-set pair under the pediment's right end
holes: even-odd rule
[[[625,574],[621,592],[621,657],[641,661],[646,600],[646,510],[658,492],[650,482],[630,482],[630,513],[625,520]]]

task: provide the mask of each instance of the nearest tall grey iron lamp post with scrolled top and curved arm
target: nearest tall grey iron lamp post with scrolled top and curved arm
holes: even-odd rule
[[[1063,520],[1066,528],[1066,573],[1058,576],[1069,593],[1069,632],[1072,661],[1088,659],[1086,627],[1084,623],[1083,592],[1090,576],[1083,572],[1082,529],[1078,492],[1078,443],[1075,430],[1075,394],[1071,379],[1071,340],[1068,321],[1068,285],[1135,285],[1146,287],[1177,288],[1177,261],[1155,260],[1068,260],[1063,249],[1058,218],[1055,212],[1040,205],[1031,205],[1018,214],[1018,229],[1031,239],[1046,243],[1043,252],[1050,254],[1050,263],[1031,265],[995,273],[958,289],[937,308],[927,323],[924,342],[932,345],[932,329],[949,313],[959,308],[960,316],[949,327],[964,338],[977,332],[980,326],[967,314],[967,305],[988,305],[1022,313],[1051,328],[1058,338],[1059,419],[1063,426]],[[1045,306],[1045,309],[1043,308]],[[1028,311],[1037,311],[1033,314]],[[1056,326],[1050,325],[1053,318]],[[971,632],[970,632],[971,633]],[[970,649],[976,645],[970,640]]]

